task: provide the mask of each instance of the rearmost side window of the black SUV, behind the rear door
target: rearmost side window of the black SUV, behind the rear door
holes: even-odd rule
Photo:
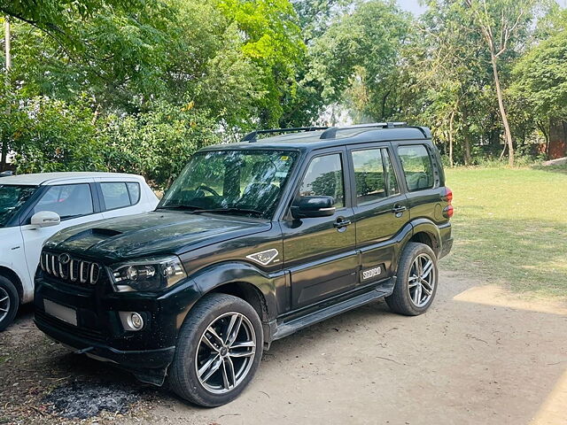
[[[400,146],[398,154],[409,191],[431,189],[434,185],[433,166],[425,146],[423,144]]]

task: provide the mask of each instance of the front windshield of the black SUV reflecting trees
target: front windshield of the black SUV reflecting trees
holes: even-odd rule
[[[158,208],[269,219],[296,157],[293,151],[198,152]]]

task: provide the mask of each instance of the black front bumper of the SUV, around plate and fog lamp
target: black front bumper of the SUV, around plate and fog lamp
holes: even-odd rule
[[[155,295],[115,293],[105,282],[99,283],[85,289],[38,272],[35,325],[75,352],[110,361],[133,372],[141,381],[160,385],[173,361],[179,329],[199,297],[198,290],[189,280]],[[73,310],[74,324],[46,313],[45,301]],[[140,313],[144,328],[126,330],[120,312]]]

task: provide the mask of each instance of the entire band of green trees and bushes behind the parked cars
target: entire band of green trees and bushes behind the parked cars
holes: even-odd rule
[[[567,13],[423,3],[416,17],[394,0],[0,0],[2,144],[22,172],[131,171],[163,187],[201,146],[334,124],[338,108],[430,126],[451,164],[533,158],[567,120]]]

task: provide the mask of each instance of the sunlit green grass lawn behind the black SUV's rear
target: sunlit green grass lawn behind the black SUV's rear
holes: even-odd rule
[[[447,169],[454,246],[447,270],[567,297],[567,167]]]

